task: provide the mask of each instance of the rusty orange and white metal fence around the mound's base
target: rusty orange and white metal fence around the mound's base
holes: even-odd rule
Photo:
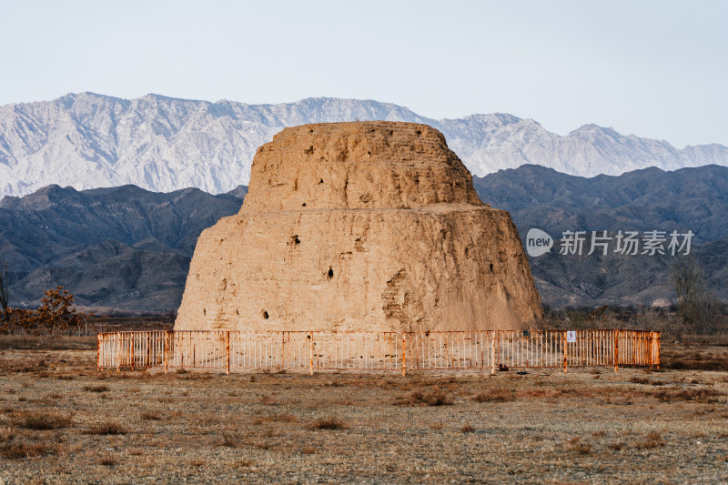
[[[660,366],[660,332],[136,331],[98,334],[98,369],[383,370]]]

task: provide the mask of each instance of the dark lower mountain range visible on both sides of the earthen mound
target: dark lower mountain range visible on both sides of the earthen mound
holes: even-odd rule
[[[728,168],[636,170],[618,177],[576,177],[522,166],[474,177],[480,198],[511,212],[521,239],[538,227],[563,231],[678,230],[695,233],[691,254],[709,287],[728,298]],[[79,304],[166,311],[179,305],[199,233],[238,212],[246,187],[210,195],[123,186],[77,191],[49,186],[0,201],[0,261],[10,266],[13,305],[69,288]],[[674,299],[674,257],[610,253],[530,258],[551,307],[651,305]]]

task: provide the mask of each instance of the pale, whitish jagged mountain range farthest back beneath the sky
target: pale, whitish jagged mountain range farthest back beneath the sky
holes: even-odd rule
[[[357,119],[435,126],[480,177],[524,164],[582,177],[651,166],[728,166],[728,147],[721,145],[677,149],[594,125],[558,136],[531,119],[507,114],[436,120],[406,107],[359,99],[247,105],[84,93],[0,106],[0,197],[22,196],[49,184],[227,192],[248,184],[256,149],[283,127]]]

